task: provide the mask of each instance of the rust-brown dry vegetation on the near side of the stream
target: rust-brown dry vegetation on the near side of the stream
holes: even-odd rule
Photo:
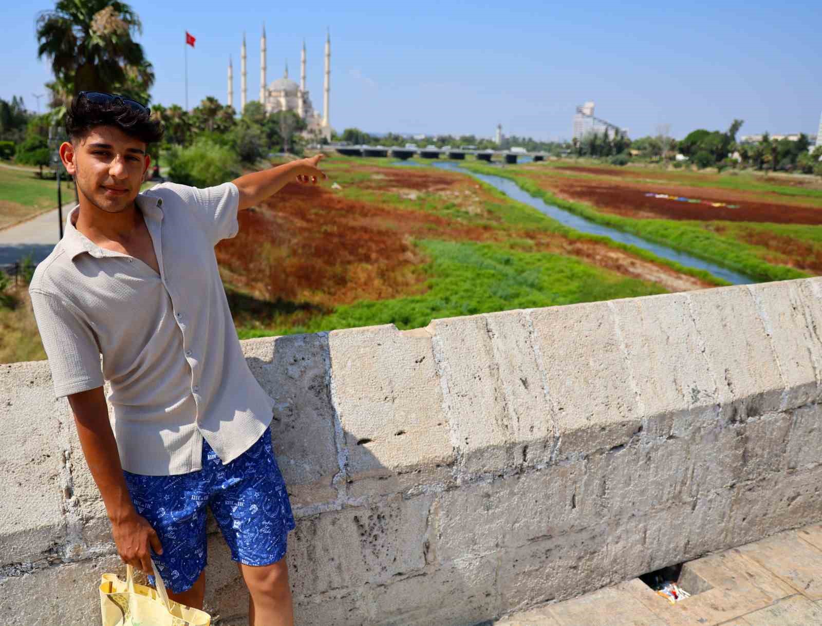
[[[492,197],[465,176],[406,176],[404,170],[388,168],[382,173],[385,178],[367,185],[386,194],[399,189],[407,196],[439,190],[437,196],[446,206],[468,213],[484,210],[483,199]],[[235,309],[235,319],[239,325],[252,320],[266,324],[276,317],[279,324],[300,325],[336,306],[425,292],[422,267],[427,258],[413,241],[427,238],[497,243],[528,239],[533,251],[574,255],[670,291],[711,286],[602,243],[570,240],[554,232],[494,228],[492,215],[479,224],[451,215],[356,200],[329,186],[291,183],[266,205],[243,211],[238,236],[216,248],[229,287],[252,294],[237,307],[246,313]]]

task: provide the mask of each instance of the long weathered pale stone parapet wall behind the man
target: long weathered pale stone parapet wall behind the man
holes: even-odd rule
[[[820,521],[820,333],[811,278],[243,342],[298,624],[476,624]],[[121,568],[45,362],[0,366],[0,419],[0,623],[98,624]]]

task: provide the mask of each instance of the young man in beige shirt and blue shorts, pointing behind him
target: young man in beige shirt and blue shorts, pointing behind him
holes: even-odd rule
[[[273,401],[242,356],[214,246],[237,234],[238,210],[324,178],[321,155],[140,193],[147,146],[162,136],[148,108],[83,92],[66,127],[60,157],[80,204],[30,293],[118,553],[147,573],[154,559],[169,595],[201,608],[208,505],[250,592],[250,624],[293,624],[294,520],[271,449]]]

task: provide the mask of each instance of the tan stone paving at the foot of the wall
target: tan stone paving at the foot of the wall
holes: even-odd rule
[[[639,578],[510,615],[494,626],[822,624],[822,526],[781,532],[682,566],[690,598],[671,604]]]

